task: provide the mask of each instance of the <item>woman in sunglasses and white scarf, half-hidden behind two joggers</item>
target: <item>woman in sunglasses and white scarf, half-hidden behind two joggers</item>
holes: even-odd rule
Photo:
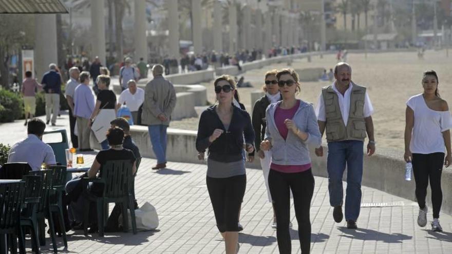
[[[265,73],[265,95],[260,97],[259,100],[254,103],[253,108],[253,128],[256,135],[254,139],[254,145],[257,149],[257,155],[260,158],[260,166],[262,168],[263,177],[265,179],[265,186],[267,187],[267,196],[270,203],[272,203],[272,197],[270,195],[270,188],[268,185],[268,175],[270,172],[270,162],[272,159],[271,151],[262,151],[259,149],[260,142],[265,135],[265,128],[267,127],[267,121],[265,118],[265,110],[267,107],[275,102],[283,100],[281,93],[279,92],[278,80],[276,79],[277,70],[267,71]],[[273,224],[272,228],[276,228],[276,216],[273,209]]]

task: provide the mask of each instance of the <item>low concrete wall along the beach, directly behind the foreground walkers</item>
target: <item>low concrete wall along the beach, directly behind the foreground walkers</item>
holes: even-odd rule
[[[155,158],[150,144],[146,126],[131,126],[130,132],[135,144],[145,157]],[[200,163],[197,159],[196,131],[168,129],[167,160],[172,162]],[[97,146],[99,148],[99,144]],[[324,147],[327,154],[328,148]],[[312,170],[314,175],[328,177],[326,167],[326,155],[316,157],[311,150]],[[368,157],[364,156],[364,186],[379,189],[398,197],[416,201],[415,182],[405,181],[405,162],[403,153],[397,150],[381,149],[378,153]],[[253,163],[247,163],[247,168],[260,168],[259,159],[256,157]],[[347,174],[344,173],[346,176]],[[344,180],[346,178],[344,177]],[[452,170],[443,169],[442,180],[443,204],[441,211],[452,215]],[[427,205],[431,207],[430,188],[427,193]]]

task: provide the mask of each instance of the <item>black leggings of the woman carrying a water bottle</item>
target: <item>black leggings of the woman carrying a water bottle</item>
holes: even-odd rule
[[[416,181],[416,199],[420,208],[425,207],[428,180],[430,180],[431,204],[433,205],[433,218],[440,217],[443,192],[441,191],[441,172],[444,165],[444,153],[429,154],[413,153],[413,173]]]

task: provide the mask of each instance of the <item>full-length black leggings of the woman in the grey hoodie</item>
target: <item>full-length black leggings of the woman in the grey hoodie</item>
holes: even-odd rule
[[[311,249],[311,220],[309,209],[314,192],[314,176],[311,169],[299,173],[282,173],[270,169],[270,194],[276,215],[276,238],[279,253],[291,253],[292,244],[289,233],[290,221],[290,191],[293,194],[295,216],[298,222],[298,239],[302,253],[309,253]]]

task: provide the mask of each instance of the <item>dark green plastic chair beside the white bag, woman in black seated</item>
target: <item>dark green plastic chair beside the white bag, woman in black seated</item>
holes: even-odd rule
[[[104,227],[107,219],[107,205],[109,203],[120,203],[122,207],[122,218],[124,232],[128,231],[127,208],[130,210],[132,229],[134,235],[137,233],[137,223],[135,220],[135,206],[133,195],[131,194],[131,179],[133,164],[129,160],[107,161],[101,170],[100,178],[90,179],[83,178],[83,181],[94,184],[103,185],[103,193],[101,197],[90,193],[85,189],[84,195],[89,201],[96,203],[99,236],[104,236]],[[87,234],[89,219],[89,209],[85,209],[83,227],[85,235]]]

